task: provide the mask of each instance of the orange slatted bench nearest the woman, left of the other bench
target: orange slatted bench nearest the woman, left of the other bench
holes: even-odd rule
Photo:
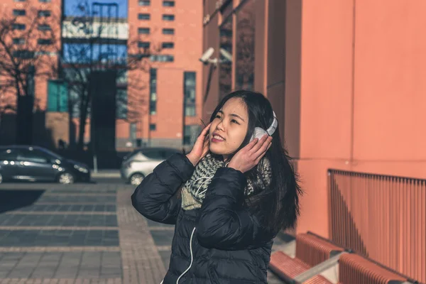
[[[297,234],[295,258],[291,258],[282,251],[276,251],[271,255],[269,268],[275,274],[291,283],[294,282],[293,279],[297,275],[326,261],[330,256],[342,253],[342,251],[344,249],[341,247],[335,246],[314,234]],[[305,281],[305,283],[328,284],[330,282],[321,275],[316,275]]]

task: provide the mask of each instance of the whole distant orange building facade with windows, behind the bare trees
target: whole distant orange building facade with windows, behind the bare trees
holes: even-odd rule
[[[50,18],[55,19],[55,23],[50,28],[60,35],[60,21],[56,21],[63,13],[60,0],[6,0],[1,7],[12,17],[15,10],[16,15],[25,14],[22,18],[27,21],[30,7],[36,13],[51,11]],[[131,56],[143,49],[150,56],[143,60],[143,67],[129,70],[120,79],[126,106],[125,114],[116,118],[116,148],[131,150],[137,146],[190,144],[200,129],[202,113],[202,63],[198,60],[202,53],[202,3],[129,0],[128,6],[120,6],[120,9],[127,9],[127,17],[117,21],[119,40],[127,43],[127,54]],[[72,17],[63,19],[64,25],[72,26]],[[97,21],[94,19],[94,26]],[[78,41],[67,35],[67,27],[62,25],[64,38],[59,36],[55,40],[55,48],[48,55],[53,62],[58,62],[55,51],[63,51],[61,40],[64,43]],[[67,69],[65,65],[62,67]],[[56,71],[57,68],[58,65],[53,65],[52,69]],[[37,77],[35,82],[33,143],[49,148],[57,147],[59,139],[66,143],[76,141],[80,124],[78,115],[70,118],[64,109],[55,111],[48,107],[48,80],[57,77],[58,74],[52,72],[49,77]],[[11,100],[13,94],[4,95],[0,104]],[[1,120],[0,143],[14,143],[13,114],[9,111]],[[89,118],[85,129],[84,142],[89,143]],[[40,131],[45,133],[38,135]]]

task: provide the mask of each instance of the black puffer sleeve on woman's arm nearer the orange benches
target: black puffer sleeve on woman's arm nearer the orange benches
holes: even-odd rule
[[[202,202],[195,230],[202,246],[222,250],[256,249],[271,241],[265,239],[256,216],[238,207],[244,198],[246,182],[239,170],[217,170]]]

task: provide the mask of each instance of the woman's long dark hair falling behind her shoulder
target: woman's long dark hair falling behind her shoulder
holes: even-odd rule
[[[255,127],[268,129],[273,121],[271,103],[263,94],[251,91],[236,91],[226,95],[214,109],[210,122],[216,117],[224,104],[232,98],[239,98],[246,104],[249,113],[249,129],[241,146],[235,151],[244,148],[253,135]],[[283,148],[280,139],[279,125],[272,135],[272,145],[264,158],[271,164],[272,179],[268,188],[261,188],[256,182],[261,167],[254,167],[245,173],[254,187],[254,194],[246,197],[243,206],[247,207],[259,217],[263,226],[272,234],[277,234],[280,229],[293,228],[299,215],[299,195],[302,193],[298,185],[298,178],[290,156]],[[231,154],[229,158],[235,153]],[[260,165],[261,163],[259,163]]]

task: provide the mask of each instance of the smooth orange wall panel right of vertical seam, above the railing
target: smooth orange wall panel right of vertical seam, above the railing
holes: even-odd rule
[[[426,2],[356,6],[354,168],[426,177]]]

